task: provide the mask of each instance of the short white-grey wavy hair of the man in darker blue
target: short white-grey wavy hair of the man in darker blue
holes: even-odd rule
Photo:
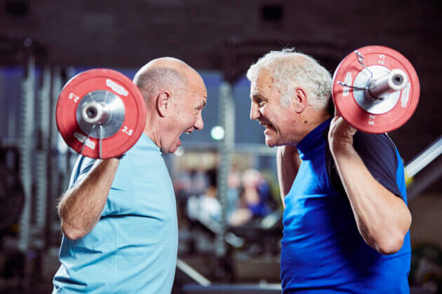
[[[314,99],[309,99],[309,105],[314,106],[316,110],[326,109],[331,96],[332,79],[330,73],[314,58],[295,52],[294,48],[270,51],[250,66],[247,78],[249,80],[257,78],[257,74],[262,69],[269,71],[276,87],[283,93],[281,95],[283,107],[290,105],[295,87],[301,85],[314,96]]]

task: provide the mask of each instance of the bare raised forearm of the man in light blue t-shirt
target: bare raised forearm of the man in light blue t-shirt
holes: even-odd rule
[[[61,227],[69,239],[80,239],[100,220],[119,160],[97,160],[86,177],[62,195],[58,206]]]

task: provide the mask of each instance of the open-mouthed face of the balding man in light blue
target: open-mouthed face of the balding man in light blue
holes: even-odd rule
[[[170,102],[173,113],[168,118],[168,127],[164,130],[166,134],[161,140],[163,153],[175,153],[181,145],[180,136],[183,133],[189,134],[204,127],[201,112],[207,103],[207,90],[201,76],[198,73],[190,74],[185,89],[176,93],[178,97]]]

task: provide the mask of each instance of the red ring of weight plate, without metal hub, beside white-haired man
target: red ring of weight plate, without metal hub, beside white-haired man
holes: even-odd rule
[[[401,127],[413,115],[419,102],[420,85],[413,65],[401,53],[384,46],[372,45],[358,49],[363,55],[364,64],[368,66],[380,65],[388,69],[401,69],[408,76],[406,87],[401,90],[399,101],[390,111],[382,114],[368,113],[357,104],[353,90],[344,93],[344,86],[338,81],[347,81],[354,85],[358,73],[364,68],[359,64],[356,54],[351,52],[337,66],[333,74],[333,102],[337,110],[347,122],[363,132],[380,134],[390,132]],[[347,87],[348,89],[348,87]]]

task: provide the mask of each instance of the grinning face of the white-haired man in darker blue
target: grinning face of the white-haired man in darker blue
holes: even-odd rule
[[[303,137],[298,130],[302,124],[299,123],[301,118],[296,111],[295,102],[283,107],[281,95],[281,90],[276,87],[267,70],[262,69],[251,80],[250,119],[257,120],[265,128],[265,144],[269,147],[296,145]]]

